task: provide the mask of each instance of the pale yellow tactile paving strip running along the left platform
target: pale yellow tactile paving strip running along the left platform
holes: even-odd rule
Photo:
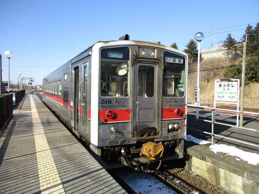
[[[41,193],[65,194],[32,95],[30,101]]]

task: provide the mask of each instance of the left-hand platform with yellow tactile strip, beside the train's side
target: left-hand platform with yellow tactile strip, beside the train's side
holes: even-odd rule
[[[0,139],[0,193],[124,194],[35,95],[26,95]]]

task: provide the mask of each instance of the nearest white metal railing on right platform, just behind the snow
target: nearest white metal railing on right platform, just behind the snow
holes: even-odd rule
[[[223,138],[223,139],[228,139],[228,140],[231,140],[231,141],[234,141],[234,142],[239,142],[239,143],[242,143],[242,144],[259,147],[259,145],[257,145],[257,144],[252,144],[252,143],[249,143],[249,142],[245,142],[245,141],[242,141],[242,140],[238,140],[238,139],[234,139],[234,138],[230,138],[230,137],[226,137],[226,136],[214,133],[214,124],[220,124],[220,125],[224,125],[224,126],[238,128],[238,129],[244,129],[244,130],[250,130],[250,131],[259,132],[259,129],[250,129],[250,128],[239,127],[239,126],[236,126],[236,125],[230,125],[230,124],[226,124],[226,123],[222,123],[222,122],[216,122],[216,119],[215,119],[216,112],[219,112],[219,113],[230,113],[230,114],[243,114],[243,115],[248,115],[248,116],[253,116],[253,117],[258,117],[258,118],[259,118],[259,113],[253,113],[253,112],[243,112],[242,113],[240,111],[234,111],[234,110],[227,110],[227,109],[220,109],[220,108],[215,108],[214,109],[214,108],[210,108],[210,107],[197,107],[197,106],[192,106],[192,105],[188,105],[188,108],[189,109],[195,109],[195,110],[196,109],[199,109],[199,110],[201,109],[201,110],[204,110],[204,111],[207,111],[207,112],[211,112],[211,120],[196,118],[196,120],[201,120],[201,121],[204,121],[204,122],[211,123],[211,132],[202,131],[202,130],[199,130],[199,129],[193,129],[193,128],[189,128],[188,127],[188,129],[190,129],[190,130],[194,130],[194,131],[198,131],[198,132],[201,132],[201,133],[209,134],[211,136],[211,145],[214,144],[213,143],[214,142],[214,136],[216,136],[216,137],[220,137],[220,138]]]

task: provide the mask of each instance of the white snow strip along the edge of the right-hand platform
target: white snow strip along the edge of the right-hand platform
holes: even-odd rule
[[[205,140],[197,139],[191,135],[187,135],[185,140],[192,141],[196,144],[202,144],[202,145],[211,143],[211,142],[208,142]],[[227,146],[224,144],[214,144],[214,145],[209,146],[209,149],[211,151],[213,151],[214,153],[223,152],[223,153],[229,154],[230,156],[239,157],[243,161],[247,161],[248,163],[253,164],[253,165],[259,164],[259,154],[246,152],[235,146]],[[237,160],[239,160],[239,159],[237,159]]]

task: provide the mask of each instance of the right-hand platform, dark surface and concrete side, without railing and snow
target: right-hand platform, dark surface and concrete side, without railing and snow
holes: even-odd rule
[[[211,113],[201,111],[199,118],[211,120]],[[235,125],[236,115],[217,113],[216,120],[219,122]],[[193,129],[211,132],[211,124],[196,120],[195,111],[188,113],[187,126]],[[244,117],[244,127],[259,129],[259,118]],[[235,127],[215,125],[215,134],[242,140],[251,144],[259,145],[259,132],[238,129]],[[199,131],[187,130],[187,134],[200,140],[211,142],[211,136]],[[215,144],[234,146],[244,151],[248,157],[259,154],[257,146],[250,146],[220,137],[214,137]],[[222,186],[235,194],[259,194],[259,163],[250,164],[227,152],[214,153],[211,144],[200,145],[185,141],[185,153],[187,153],[185,170],[192,171],[204,178],[211,184]],[[241,152],[240,151],[240,152]],[[245,154],[246,155],[246,154]],[[259,161],[259,158],[254,158]]]

